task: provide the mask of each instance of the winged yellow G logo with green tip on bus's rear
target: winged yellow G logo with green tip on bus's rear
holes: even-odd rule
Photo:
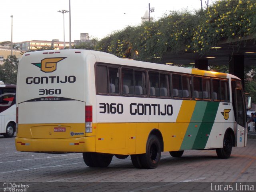
[[[39,67],[42,72],[50,73],[57,69],[57,63],[67,57],[55,57],[55,58],[44,58],[40,63],[32,63],[33,65]]]

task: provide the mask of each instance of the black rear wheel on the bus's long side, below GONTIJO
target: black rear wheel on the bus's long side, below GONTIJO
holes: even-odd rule
[[[158,166],[161,159],[161,145],[155,135],[148,137],[146,153],[139,156],[143,168],[154,169]]]

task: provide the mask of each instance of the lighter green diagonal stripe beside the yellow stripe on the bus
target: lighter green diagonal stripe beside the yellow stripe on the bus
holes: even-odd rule
[[[192,149],[208,102],[197,101],[190,123],[184,135],[180,150]]]

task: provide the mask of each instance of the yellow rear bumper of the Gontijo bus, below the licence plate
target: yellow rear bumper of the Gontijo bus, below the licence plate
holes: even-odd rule
[[[95,152],[95,136],[66,139],[16,137],[17,151],[23,152]]]

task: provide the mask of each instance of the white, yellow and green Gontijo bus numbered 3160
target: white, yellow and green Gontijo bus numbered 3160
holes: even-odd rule
[[[18,66],[16,149],[113,155],[156,168],[161,152],[246,146],[242,84],[231,74],[121,59],[91,50],[24,54]]]

